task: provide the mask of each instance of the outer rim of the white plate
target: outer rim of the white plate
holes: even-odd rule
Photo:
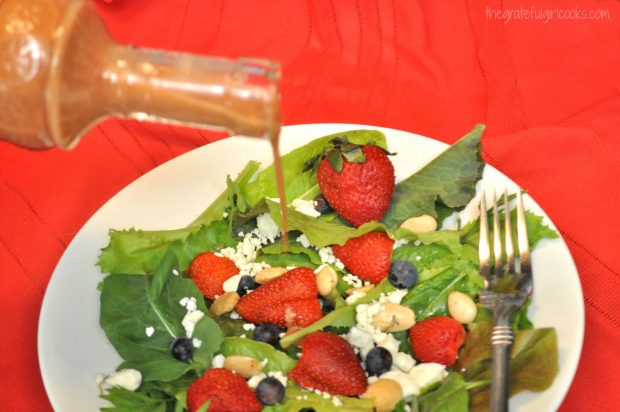
[[[442,142],[440,140],[433,139],[433,138],[427,137],[427,136],[423,136],[423,135],[420,135],[420,134],[417,134],[417,133],[409,132],[409,131],[406,131],[406,130],[400,130],[400,129],[394,129],[394,128],[389,128],[389,127],[382,127],[382,126],[355,124],[355,123],[304,123],[304,124],[294,124],[294,125],[283,126],[283,131],[287,131],[287,133],[288,132],[294,133],[294,130],[296,130],[296,129],[305,130],[305,129],[312,129],[312,128],[317,128],[317,129],[319,129],[319,128],[334,129],[334,131],[329,132],[329,134],[337,133],[337,132],[342,131],[342,130],[354,130],[354,129],[379,130],[379,131],[383,132],[384,134],[386,134],[386,136],[388,136],[388,133],[390,133],[390,132],[405,133],[405,134],[411,135],[411,136],[413,136],[415,138],[426,139],[426,140],[432,141],[432,142],[434,142],[436,144],[441,145],[441,147],[443,149],[445,149],[445,148],[450,146],[449,144],[446,144],[446,143],[444,143],[444,142]],[[323,134],[321,134],[321,136],[322,135]],[[316,137],[320,137],[320,136],[319,135],[316,135],[316,136],[313,135],[313,138],[316,138]],[[45,353],[45,350],[43,349],[45,347],[44,327],[45,327],[45,323],[49,321],[48,320],[48,316],[49,316],[48,314],[50,312],[49,307],[53,303],[51,301],[52,298],[50,297],[51,293],[49,291],[52,290],[54,287],[56,287],[56,285],[59,282],[61,282],[61,280],[59,280],[59,279],[62,276],[61,275],[62,272],[59,272],[59,268],[61,267],[61,264],[63,263],[63,261],[65,259],[68,259],[68,257],[66,257],[66,256],[68,256],[69,255],[68,252],[70,250],[72,250],[72,245],[74,244],[75,239],[78,239],[82,232],[85,232],[85,231],[88,230],[88,227],[90,226],[91,222],[93,222],[95,220],[95,218],[97,218],[100,213],[103,213],[102,211],[104,211],[106,206],[114,198],[120,196],[121,193],[124,193],[126,191],[131,190],[132,186],[134,186],[137,182],[140,182],[142,180],[148,179],[151,174],[153,174],[156,170],[160,169],[162,166],[168,165],[168,167],[170,167],[169,166],[170,163],[177,162],[177,161],[182,161],[182,160],[179,160],[179,159],[182,159],[182,158],[186,157],[187,155],[189,155],[190,153],[196,152],[197,150],[204,149],[207,146],[213,147],[213,145],[217,145],[220,142],[227,141],[227,140],[230,140],[230,139],[238,139],[238,138],[244,138],[244,137],[241,137],[241,136],[231,136],[229,138],[222,139],[222,140],[210,143],[208,145],[198,147],[196,149],[188,150],[188,151],[186,151],[186,152],[184,152],[184,153],[182,153],[182,154],[180,154],[178,156],[175,156],[175,157],[173,157],[171,159],[168,159],[167,161],[161,163],[160,165],[157,165],[153,169],[149,170],[147,173],[144,173],[143,175],[141,175],[138,178],[134,179],[133,181],[129,182],[127,185],[125,185],[119,191],[114,193],[114,195],[112,195],[110,198],[108,198],[85,221],[85,223],[82,225],[82,227],[76,233],[76,235],[73,237],[73,239],[71,240],[71,242],[69,243],[69,245],[67,246],[65,251],[63,252],[62,256],[60,257],[60,259],[56,263],[52,274],[50,275],[50,279],[49,279],[49,282],[47,284],[45,295],[43,297],[41,308],[40,308],[40,311],[39,311],[39,318],[38,318],[38,324],[37,324],[37,361],[38,361],[38,365],[39,365],[39,372],[40,372],[41,378],[43,380],[43,385],[45,387],[46,395],[47,395],[47,397],[48,397],[48,399],[49,399],[49,401],[50,401],[50,403],[52,405],[52,408],[54,410],[60,410],[59,409],[60,405],[58,404],[58,400],[53,396],[53,394],[52,394],[52,392],[50,390],[50,388],[51,388],[51,382],[49,381],[50,373],[46,369],[47,365],[46,365],[46,362],[45,362],[45,359],[46,359],[47,355]],[[255,139],[252,139],[252,140],[255,140]],[[297,147],[297,146],[295,146],[295,147]],[[493,169],[495,172],[499,173],[503,178],[507,179],[512,184],[518,186],[510,177],[508,177],[507,175],[502,173],[499,169],[495,168],[494,166],[492,166],[492,165],[490,165],[490,164],[488,164],[486,162],[485,162],[485,165],[488,168]],[[520,187],[520,186],[518,186],[518,187]],[[569,380],[568,380],[569,383],[565,387],[561,388],[558,391],[558,396],[556,397],[556,399],[557,399],[556,404],[555,405],[550,405],[550,406],[553,407],[552,410],[556,410],[561,405],[561,403],[563,402],[563,400],[566,397],[566,394],[568,393],[568,391],[570,390],[570,388],[572,386],[572,383],[574,381],[574,377],[575,377],[575,374],[576,374],[576,371],[577,371],[577,368],[579,366],[579,363],[580,363],[580,360],[581,360],[581,356],[582,356],[582,353],[583,353],[583,342],[584,342],[584,336],[585,336],[585,307],[584,307],[584,301],[583,301],[583,288],[582,288],[582,285],[581,285],[581,279],[580,279],[580,276],[579,276],[579,271],[577,270],[577,266],[576,266],[576,264],[574,262],[573,256],[570,253],[570,250],[568,249],[567,243],[564,240],[562,234],[557,230],[555,224],[553,223],[553,221],[551,220],[549,215],[545,212],[545,210],[542,207],[540,207],[540,205],[538,205],[536,200],[533,199],[529,195],[526,195],[526,196],[529,198],[529,200],[532,203],[534,203],[536,205],[536,207],[540,211],[542,211],[543,215],[547,219],[547,222],[557,231],[558,238],[559,238],[559,240],[561,240],[561,247],[563,249],[565,249],[566,255],[570,259],[570,262],[568,262],[568,263],[570,263],[570,265],[572,266],[572,268],[574,269],[574,272],[576,274],[576,281],[577,281],[577,285],[578,285],[577,294],[579,295],[579,298],[580,298],[579,302],[578,302],[578,305],[580,306],[579,307],[579,309],[580,309],[579,310],[580,317],[579,317],[579,319],[576,322],[580,326],[580,328],[579,328],[580,329],[580,333],[578,335],[578,341],[577,342],[573,342],[575,344],[576,348],[577,348],[577,356],[576,356],[576,359],[574,360],[574,362],[571,365],[568,365],[568,370],[567,370],[566,366],[563,367],[563,374],[568,374],[567,376],[569,377]],[[93,264],[94,263],[95,262],[93,262]]]

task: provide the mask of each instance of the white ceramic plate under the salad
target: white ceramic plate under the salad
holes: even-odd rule
[[[385,133],[397,179],[418,170],[447,146],[411,133],[362,125],[311,124],[283,130],[282,152],[323,135],[377,129]],[[39,362],[43,382],[57,411],[97,411],[104,406],[95,376],[114,371],[120,357],[99,327],[102,274],[95,266],[110,228],[173,229],[187,225],[225,189],[248,160],[272,162],[266,141],[230,138],[175,158],[142,176],[108,201],[84,225],[58,263],[45,294],[39,321]],[[517,186],[487,167],[479,189]],[[526,208],[543,211],[526,197]],[[537,326],[557,329],[560,373],[540,394],[511,400],[513,411],[554,411],[568,390],[581,353],[583,298],[573,260],[562,239],[544,240],[533,252],[535,296],[530,313]],[[562,285],[562,287],[558,287]]]

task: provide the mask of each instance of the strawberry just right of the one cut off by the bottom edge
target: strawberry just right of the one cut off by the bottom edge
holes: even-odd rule
[[[289,377],[307,389],[356,396],[368,383],[349,343],[329,332],[314,332],[301,342],[301,358]]]

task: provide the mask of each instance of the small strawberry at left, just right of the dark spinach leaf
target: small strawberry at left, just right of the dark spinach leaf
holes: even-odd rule
[[[231,276],[239,273],[232,260],[217,256],[213,252],[202,253],[194,258],[189,267],[189,275],[198,289],[209,299],[224,293],[222,285]]]

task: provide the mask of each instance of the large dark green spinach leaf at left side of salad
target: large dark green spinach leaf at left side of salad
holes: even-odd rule
[[[169,382],[186,373],[210,366],[212,353],[219,348],[221,331],[211,319],[196,325],[196,337],[203,346],[195,352],[195,362],[181,362],[170,354],[170,344],[185,336],[181,321],[186,309],[184,297],[196,298],[198,309],[206,312],[202,294],[191,279],[174,275],[176,256],[168,252],[151,275],[111,275],[103,280],[100,325],[116,351],[125,359],[124,368],[140,370],[144,381]],[[153,327],[152,336],[145,330]]]

